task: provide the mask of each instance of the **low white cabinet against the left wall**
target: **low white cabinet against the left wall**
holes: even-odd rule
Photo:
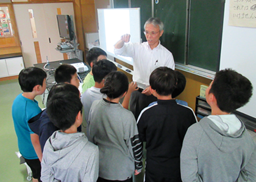
[[[19,75],[22,69],[24,69],[22,56],[0,59],[0,78]]]

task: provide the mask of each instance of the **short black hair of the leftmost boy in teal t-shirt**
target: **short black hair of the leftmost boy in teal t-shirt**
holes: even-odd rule
[[[18,78],[21,90],[32,92],[35,86],[43,86],[46,76],[46,72],[38,67],[28,67],[21,70]]]

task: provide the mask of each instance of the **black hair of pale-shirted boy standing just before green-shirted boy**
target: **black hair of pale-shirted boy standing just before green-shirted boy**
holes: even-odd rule
[[[102,79],[107,76],[110,72],[115,72],[117,70],[113,62],[107,59],[102,59],[93,64],[93,79],[97,83],[101,83]]]

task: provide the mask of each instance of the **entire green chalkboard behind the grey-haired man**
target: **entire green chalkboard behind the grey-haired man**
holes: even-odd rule
[[[129,7],[128,0],[114,4]],[[146,41],[144,22],[152,16],[152,1],[130,0],[130,5],[141,8],[141,38]],[[224,0],[161,0],[154,1],[153,10],[165,25],[161,44],[172,52],[175,62],[219,70]]]

